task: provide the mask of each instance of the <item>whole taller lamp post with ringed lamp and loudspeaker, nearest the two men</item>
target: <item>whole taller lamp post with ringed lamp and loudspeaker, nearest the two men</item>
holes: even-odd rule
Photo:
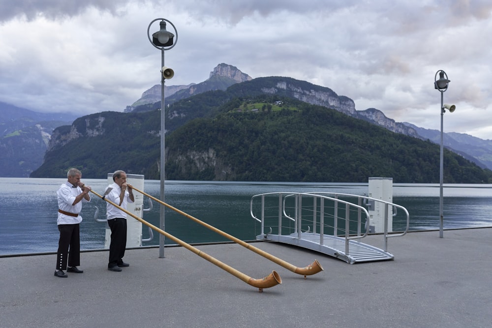
[[[152,34],[150,34],[150,29],[154,22],[160,21],[160,30]],[[173,29],[175,34],[166,30],[166,22],[169,23]],[[154,19],[147,28],[147,36],[149,37],[149,41],[151,44],[161,51],[161,92],[160,92],[160,200],[164,202],[164,132],[165,132],[165,110],[164,110],[164,82],[166,79],[170,79],[174,76],[174,71],[171,68],[164,66],[164,51],[173,48],[178,42],[178,30],[173,23],[168,21],[165,18],[156,18]],[[160,205],[160,220],[159,220],[159,228],[164,229],[164,205]],[[164,257],[164,236],[159,234],[159,257]]]

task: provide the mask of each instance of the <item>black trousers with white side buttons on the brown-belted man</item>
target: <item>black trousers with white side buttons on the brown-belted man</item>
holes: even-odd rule
[[[80,225],[59,224],[60,240],[58,241],[57,270],[80,266]],[[70,251],[69,251],[70,249]]]

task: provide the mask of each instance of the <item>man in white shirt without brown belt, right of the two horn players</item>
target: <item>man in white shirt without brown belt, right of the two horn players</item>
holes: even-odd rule
[[[135,201],[133,190],[126,183],[126,173],[121,170],[116,171],[113,173],[113,181],[114,183],[108,186],[112,190],[106,199],[126,210],[128,203]],[[116,206],[106,203],[106,217],[111,229],[108,270],[121,271],[121,268],[129,266],[128,263],[123,262],[126,249],[126,213]]]

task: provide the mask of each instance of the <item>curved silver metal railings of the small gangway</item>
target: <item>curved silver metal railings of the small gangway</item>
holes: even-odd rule
[[[343,199],[341,199],[343,198]],[[355,199],[354,201],[349,201]],[[258,204],[258,200],[261,201]],[[273,192],[254,195],[250,201],[250,214],[261,224],[261,235],[272,234],[274,228],[278,235],[303,233],[319,233],[319,242],[323,244],[324,236],[336,236],[345,239],[345,254],[349,254],[349,240],[362,239],[369,233],[369,209],[376,202],[384,204],[384,251],[388,249],[388,239],[404,236],[409,229],[410,216],[408,211],[397,204],[379,199],[329,192]],[[388,232],[389,211],[395,217],[401,209],[406,219],[403,232],[393,234]],[[259,217],[258,217],[259,216]],[[265,226],[270,232],[265,234]],[[312,231],[311,230],[312,227]]]

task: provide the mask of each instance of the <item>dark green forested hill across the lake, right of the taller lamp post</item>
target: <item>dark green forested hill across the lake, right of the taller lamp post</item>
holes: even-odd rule
[[[439,146],[431,142],[289,99],[278,111],[238,112],[245,106],[233,101],[226,113],[172,133],[166,139],[168,179],[439,182]],[[448,150],[444,167],[447,183],[491,181],[490,171]]]

